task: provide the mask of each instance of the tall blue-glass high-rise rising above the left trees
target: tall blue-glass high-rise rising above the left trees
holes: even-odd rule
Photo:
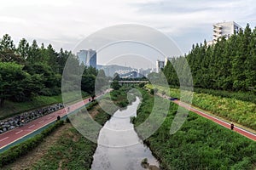
[[[86,66],[92,66],[96,68],[96,60],[97,60],[97,54],[96,50],[88,49],[88,50],[80,50],[77,53],[79,57],[79,64],[81,65],[84,63]]]

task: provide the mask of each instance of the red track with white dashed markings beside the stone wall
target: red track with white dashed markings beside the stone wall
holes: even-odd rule
[[[88,99],[84,99],[76,104],[69,105],[69,112],[75,111],[79,107],[87,104],[89,102]],[[67,111],[65,108],[52,112],[46,116],[39,117],[38,119],[26,123],[22,127],[16,127],[12,130],[7,131],[6,133],[0,134],[0,150],[3,149],[5,146],[14,143],[15,141],[22,139],[26,135],[37,131],[38,129],[48,125],[50,122],[55,122],[57,120],[57,116],[65,116],[67,115]]]

